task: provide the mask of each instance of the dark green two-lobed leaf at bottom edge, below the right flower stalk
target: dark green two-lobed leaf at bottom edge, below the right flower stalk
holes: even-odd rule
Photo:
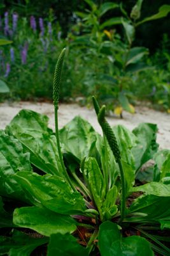
[[[150,243],[139,236],[122,237],[120,227],[106,221],[99,227],[101,256],[153,256]]]

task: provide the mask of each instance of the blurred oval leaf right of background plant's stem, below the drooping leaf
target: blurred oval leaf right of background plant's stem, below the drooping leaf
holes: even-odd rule
[[[133,47],[128,53],[126,66],[132,63],[138,63],[146,54],[148,54],[148,49],[145,47]]]

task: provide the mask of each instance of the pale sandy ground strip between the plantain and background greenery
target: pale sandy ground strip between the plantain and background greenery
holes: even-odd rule
[[[53,105],[50,103],[34,103],[34,102],[17,102],[17,103],[2,103],[0,104],[0,129],[4,129],[10,120],[17,115],[21,109],[31,109],[47,115],[49,120],[49,126],[54,128],[54,114]],[[101,127],[97,123],[96,114],[93,109],[87,109],[80,107],[77,104],[60,104],[59,106],[59,127],[67,124],[74,116],[80,115],[92,124],[96,131],[101,133]],[[170,149],[170,115],[167,113],[161,113],[153,109],[146,107],[136,107],[136,113],[134,115],[124,112],[124,119],[110,116],[107,118],[111,125],[123,124],[130,130],[134,129],[136,125],[141,122],[148,122],[157,124],[159,132],[157,134],[157,141],[160,144],[160,148]]]

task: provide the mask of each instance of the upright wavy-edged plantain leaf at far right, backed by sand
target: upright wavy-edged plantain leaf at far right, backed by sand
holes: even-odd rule
[[[139,170],[157,152],[157,125],[142,123],[132,132],[138,138],[136,147],[132,148],[132,153],[135,159],[136,170]]]

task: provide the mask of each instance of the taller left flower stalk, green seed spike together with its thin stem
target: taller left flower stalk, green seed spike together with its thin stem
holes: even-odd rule
[[[70,184],[71,188],[75,190],[71,182],[71,179],[69,178],[69,175],[67,173],[66,167],[64,166],[62,152],[60,149],[60,140],[59,140],[59,125],[58,125],[59,93],[60,93],[60,83],[61,83],[61,74],[62,74],[62,64],[64,61],[65,51],[66,49],[64,48],[60,53],[59,59],[57,60],[57,64],[55,66],[55,72],[53,77],[53,105],[54,105],[54,113],[55,113],[55,136],[57,140],[57,149],[59,152],[59,159],[60,159],[60,164],[62,166],[62,171],[66,176],[67,181]]]

